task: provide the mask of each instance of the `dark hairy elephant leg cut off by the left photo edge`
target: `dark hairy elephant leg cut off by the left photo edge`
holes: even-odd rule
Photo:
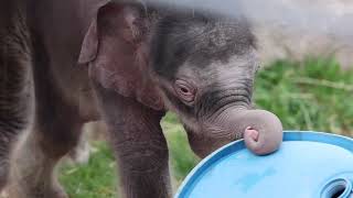
[[[8,182],[10,153],[33,112],[28,31],[12,11],[0,6],[0,191]]]

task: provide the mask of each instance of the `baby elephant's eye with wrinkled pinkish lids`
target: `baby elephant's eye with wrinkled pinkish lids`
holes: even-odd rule
[[[178,79],[174,85],[178,97],[186,105],[192,105],[196,89],[186,80]]]

